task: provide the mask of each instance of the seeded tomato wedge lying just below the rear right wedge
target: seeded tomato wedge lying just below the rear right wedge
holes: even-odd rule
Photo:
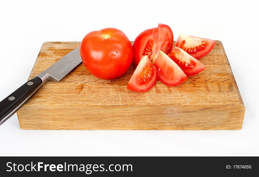
[[[174,47],[168,56],[183,70],[187,76],[203,71],[206,66],[179,47]]]

